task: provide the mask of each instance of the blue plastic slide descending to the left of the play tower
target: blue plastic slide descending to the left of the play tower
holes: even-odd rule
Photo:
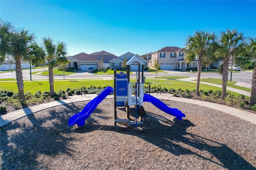
[[[77,126],[84,126],[85,125],[85,119],[87,119],[91,113],[94,111],[94,109],[102,102],[111,92],[114,92],[114,89],[110,86],[106,87],[97,97],[92,99],[82,111],[77,113],[76,115],[73,115],[68,120],[68,125],[73,126],[77,124]]]

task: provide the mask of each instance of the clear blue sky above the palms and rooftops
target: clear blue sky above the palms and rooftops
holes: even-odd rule
[[[64,41],[68,55],[128,51],[143,55],[166,46],[185,47],[196,30],[237,29],[256,37],[256,1],[9,1],[0,18],[26,28],[37,41]]]

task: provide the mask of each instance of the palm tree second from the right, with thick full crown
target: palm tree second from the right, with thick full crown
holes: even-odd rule
[[[226,30],[226,32],[220,32],[220,39],[218,42],[214,42],[212,49],[216,57],[223,59],[222,64],[222,95],[221,99],[226,97],[226,89],[228,82],[228,65],[232,55],[235,55],[236,49],[244,41],[244,35],[237,32],[237,30]]]

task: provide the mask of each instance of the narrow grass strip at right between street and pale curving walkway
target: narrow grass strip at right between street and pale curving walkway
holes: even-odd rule
[[[192,80],[192,81],[196,81],[196,80]],[[200,79],[200,82],[206,82],[206,83],[213,83],[213,84],[217,84],[217,85],[222,85],[222,79],[214,79],[214,78],[206,78],[205,79],[205,78],[202,78],[202,79]],[[234,85],[235,83],[236,83],[236,81],[228,81],[227,82],[227,86],[235,88],[235,89],[240,89],[240,90],[252,92],[252,89],[249,89],[249,88],[246,88],[246,87],[241,87],[241,86],[238,86],[238,85]]]

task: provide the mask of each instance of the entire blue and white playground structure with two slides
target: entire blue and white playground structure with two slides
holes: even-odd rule
[[[136,63],[138,65],[138,72],[136,72],[136,82],[130,82],[130,65]],[[114,89],[112,87],[106,87],[97,97],[92,99],[81,112],[73,115],[68,120],[68,125],[78,126],[85,125],[85,120],[90,116],[98,104],[104,100],[110,93],[114,93],[114,123],[116,122],[127,122],[128,125],[143,124],[143,116],[146,115],[143,102],[150,102],[158,109],[175,116],[178,120],[182,120],[182,117],[186,117],[184,113],[175,108],[170,108],[159,99],[144,94],[144,77],[143,69],[144,63],[140,60],[140,57],[134,55],[126,63],[127,73],[114,71]],[[161,86],[160,86],[161,87]],[[84,88],[84,87],[82,87]],[[82,90],[81,88],[81,90]],[[85,89],[84,89],[85,91]],[[134,105],[134,107],[132,107]],[[126,117],[118,117],[118,107],[125,107]]]

